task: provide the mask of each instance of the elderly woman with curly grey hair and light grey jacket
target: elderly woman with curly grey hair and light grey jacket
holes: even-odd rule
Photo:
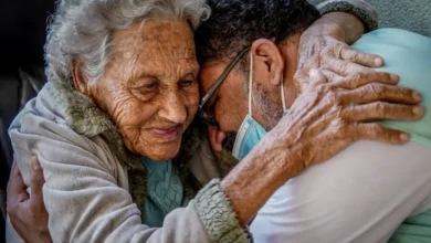
[[[319,116],[339,104],[304,98],[297,105],[315,115],[280,123],[285,133],[200,189],[217,177],[187,129],[199,104],[192,30],[208,13],[201,0],[61,1],[50,82],[10,128],[25,184],[32,156],[43,168],[54,242],[249,242],[244,228],[292,177],[358,138],[404,141],[398,131],[329,133],[333,118]],[[309,146],[317,135],[333,141],[324,151]]]

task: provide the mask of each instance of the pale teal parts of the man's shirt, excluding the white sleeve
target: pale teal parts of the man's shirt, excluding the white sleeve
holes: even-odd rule
[[[403,30],[380,29],[365,34],[353,47],[381,55],[386,65],[379,71],[400,75],[400,86],[417,89],[423,95],[421,105],[428,112],[421,120],[388,120],[382,124],[407,131],[413,141],[431,148],[431,39]],[[407,219],[389,242],[431,242],[431,210]]]

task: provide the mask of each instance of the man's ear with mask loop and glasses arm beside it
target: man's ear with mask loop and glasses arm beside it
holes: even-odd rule
[[[278,46],[267,40],[259,39],[251,46],[256,81],[266,80],[271,85],[280,85],[284,71],[284,60]]]

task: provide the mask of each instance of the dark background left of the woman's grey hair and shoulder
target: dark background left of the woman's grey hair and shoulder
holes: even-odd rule
[[[43,44],[54,0],[0,1],[0,216],[6,212],[6,187],[12,151],[7,129],[22,106],[45,82]],[[0,219],[1,219],[0,218]],[[0,220],[0,242],[4,223]]]

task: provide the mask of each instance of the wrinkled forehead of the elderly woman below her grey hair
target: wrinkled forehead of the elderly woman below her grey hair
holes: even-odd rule
[[[199,72],[193,34],[186,21],[146,21],[116,32],[112,64],[132,81],[144,76],[178,80]]]

